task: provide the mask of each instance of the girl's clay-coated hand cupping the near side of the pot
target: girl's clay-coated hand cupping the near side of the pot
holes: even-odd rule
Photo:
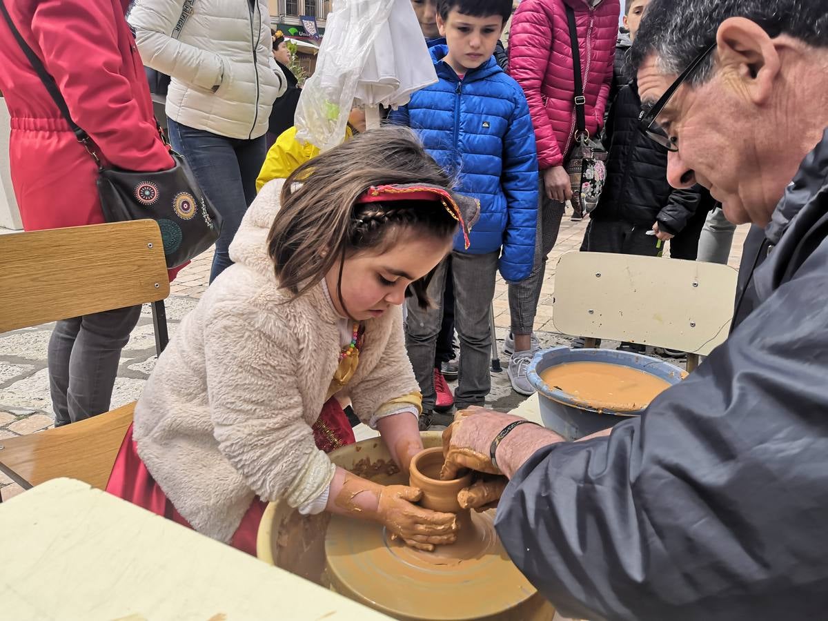
[[[438,513],[416,506],[422,497],[420,489],[407,485],[388,485],[379,493],[377,513],[393,539],[402,539],[407,546],[433,551],[434,546],[454,543],[457,520],[454,513]]]

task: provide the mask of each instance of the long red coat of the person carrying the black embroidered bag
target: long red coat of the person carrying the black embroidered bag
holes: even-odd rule
[[[174,165],[158,137],[141,58],[124,18],[129,0],[6,2],[103,161],[133,171]],[[94,161],[0,19],[0,90],[12,116],[12,185],[27,231],[99,224]]]

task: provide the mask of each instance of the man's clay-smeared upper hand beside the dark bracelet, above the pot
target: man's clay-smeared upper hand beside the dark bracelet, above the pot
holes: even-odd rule
[[[501,474],[489,458],[489,449],[503,427],[519,420],[519,416],[501,414],[484,407],[469,407],[458,412],[455,421],[443,431],[445,464],[440,470],[440,479],[455,479],[464,468]]]

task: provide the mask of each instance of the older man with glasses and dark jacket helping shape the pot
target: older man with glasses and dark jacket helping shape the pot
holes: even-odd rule
[[[738,302],[753,310],[611,434],[564,442],[476,412],[445,433],[446,474],[494,461],[508,476],[498,532],[564,614],[825,619],[824,0],[653,0],[632,60],[672,185],[699,182],[765,229]]]

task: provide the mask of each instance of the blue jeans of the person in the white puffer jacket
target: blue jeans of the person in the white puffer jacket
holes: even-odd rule
[[[209,282],[213,282],[233,264],[228,248],[248,205],[256,198],[256,177],[267,155],[266,139],[219,136],[171,118],[167,127],[172,148],[185,157],[201,189],[224,218],[209,274]]]

